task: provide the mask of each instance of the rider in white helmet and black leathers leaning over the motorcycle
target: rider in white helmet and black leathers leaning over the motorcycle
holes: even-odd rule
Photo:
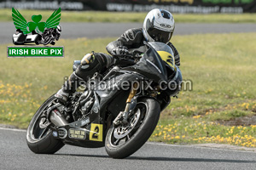
[[[149,11],[144,22],[143,28],[132,28],[125,31],[116,41],[108,43],[107,51],[109,54],[128,54],[129,50],[137,49],[145,52],[146,47],[143,43],[164,42],[170,46],[174,53],[175,65],[180,65],[180,57],[177,49],[169,42],[175,28],[172,14],[165,10],[154,8]],[[114,59],[111,55],[103,53],[86,54],[81,60],[81,64],[73,71],[62,88],[55,94],[61,103],[65,103],[70,94],[78,88],[79,81],[86,81],[95,72],[102,73],[113,65]]]

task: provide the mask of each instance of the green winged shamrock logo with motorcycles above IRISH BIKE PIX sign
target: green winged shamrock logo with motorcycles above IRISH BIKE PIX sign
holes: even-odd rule
[[[64,57],[64,47],[54,46],[61,37],[61,8],[56,9],[45,22],[41,14],[32,15],[32,20],[26,21],[16,8],[12,8],[12,18],[16,33],[12,37],[15,46],[7,49],[9,58]]]

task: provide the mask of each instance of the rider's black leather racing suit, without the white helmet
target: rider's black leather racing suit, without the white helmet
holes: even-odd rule
[[[146,41],[143,37],[143,29],[142,28],[132,28],[128,31],[125,31],[121,37],[119,37],[116,41],[108,43],[106,47],[109,54],[112,54],[114,48],[118,48],[119,46],[125,46],[126,48],[133,50],[137,49],[141,52],[145,52],[146,47],[143,44],[143,41]],[[177,53],[177,49],[173,46],[172,42],[167,42],[174,53],[175,64],[177,66],[180,65],[179,54]],[[82,61],[84,58],[82,59]],[[82,62],[83,63],[83,62]],[[90,63],[86,63],[86,65],[79,65],[76,71],[69,77],[67,82],[63,85],[63,92],[65,93],[73,93],[75,89],[79,85],[79,80],[86,81],[88,77],[92,77],[95,72],[102,73],[106,71],[106,69],[113,65],[113,57],[108,54],[103,53],[95,53],[94,58],[90,59]]]

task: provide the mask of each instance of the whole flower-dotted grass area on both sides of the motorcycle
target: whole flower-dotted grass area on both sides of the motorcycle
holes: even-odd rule
[[[65,46],[63,59],[8,59],[7,45],[1,45],[0,123],[26,127],[38,106],[61,88],[73,60],[91,50],[106,53],[114,39],[61,39],[56,45]],[[256,126],[239,122],[256,114],[256,33],[175,36],[172,42],[181,56],[183,79],[193,82],[193,90],[172,99],[150,140],[256,146]],[[236,119],[234,126],[223,123]]]

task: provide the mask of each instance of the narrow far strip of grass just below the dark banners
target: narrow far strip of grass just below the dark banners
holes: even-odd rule
[[[31,20],[33,14],[42,14],[43,21],[47,20],[53,10],[24,10],[20,9],[27,21]],[[147,13],[128,12],[102,12],[83,11],[72,12],[62,11],[61,22],[143,22]],[[255,23],[256,14],[173,14],[177,23]],[[12,21],[11,8],[0,9],[0,21]]]

